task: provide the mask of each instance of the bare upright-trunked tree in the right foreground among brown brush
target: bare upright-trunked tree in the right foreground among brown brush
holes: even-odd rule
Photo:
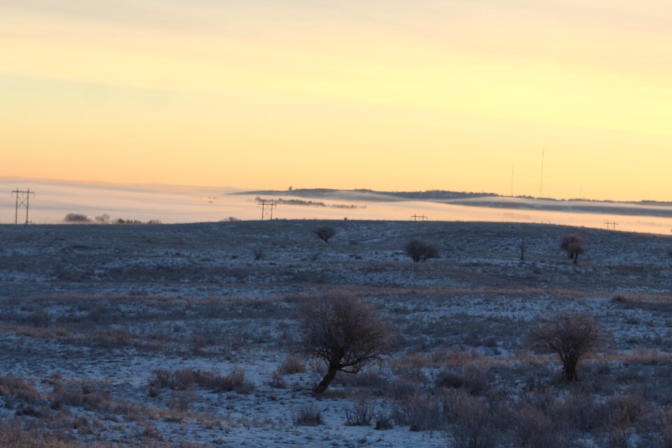
[[[606,337],[601,323],[589,314],[563,311],[528,332],[526,342],[535,349],[555,353],[565,379],[571,382],[578,379],[577,365],[605,344]]]

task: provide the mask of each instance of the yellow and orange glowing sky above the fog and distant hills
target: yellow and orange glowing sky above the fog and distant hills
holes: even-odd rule
[[[0,176],[672,201],[671,29],[668,0],[0,0]]]

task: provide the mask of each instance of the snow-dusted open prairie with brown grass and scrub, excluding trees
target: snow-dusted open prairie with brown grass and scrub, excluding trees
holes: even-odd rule
[[[439,258],[412,262],[413,237]],[[2,446],[672,447],[670,237],[276,220],[0,241]],[[371,302],[396,351],[316,396],[295,310],[330,293]],[[561,311],[607,335],[571,383],[524,337]]]

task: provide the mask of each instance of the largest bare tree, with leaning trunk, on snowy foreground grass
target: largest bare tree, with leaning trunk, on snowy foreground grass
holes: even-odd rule
[[[300,351],[323,360],[327,367],[315,393],[323,393],[339,370],[357,373],[393,349],[391,332],[372,304],[352,295],[306,300],[298,316]]]

